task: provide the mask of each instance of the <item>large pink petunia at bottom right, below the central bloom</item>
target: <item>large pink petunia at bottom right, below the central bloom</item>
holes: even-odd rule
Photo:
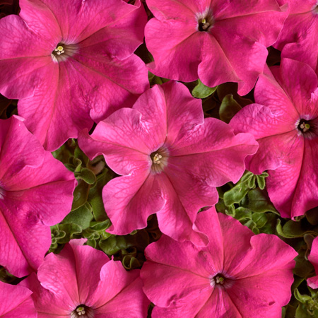
[[[208,235],[207,247],[165,235],[146,247],[141,279],[156,305],[152,317],[281,317],[297,252],[276,235],[254,235],[214,207],[199,213],[196,226]]]

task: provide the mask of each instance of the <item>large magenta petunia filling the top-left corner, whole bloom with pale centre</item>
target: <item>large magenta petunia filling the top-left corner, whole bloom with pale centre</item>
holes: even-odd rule
[[[20,99],[18,113],[47,150],[148,88],[146,66],[133,54],[146,24],[139,0],[20,0],[20,7],[20,16],[0,20],[0,93]]]

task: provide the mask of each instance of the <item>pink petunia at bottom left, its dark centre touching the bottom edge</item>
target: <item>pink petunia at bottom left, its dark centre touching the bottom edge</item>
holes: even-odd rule
[[[33,291],[38,318],[143,318],[149,300],[139,269],[126,271],[101,251],[72,240],[50,253],[22,283]]]

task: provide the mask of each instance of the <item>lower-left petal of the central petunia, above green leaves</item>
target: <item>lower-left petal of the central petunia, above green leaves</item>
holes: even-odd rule
[[[112,221],[107,232],[117,235],[146,228],[148,216],[161,211],[165,205],[158,179],[142,170],[112,179],[102,190],[102,199]]]

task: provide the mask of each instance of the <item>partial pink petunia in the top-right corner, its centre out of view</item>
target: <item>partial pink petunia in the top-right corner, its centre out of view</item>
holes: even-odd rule
[[[318,1],[288,0],[288,3],[290,13],[273,47],[282,51],[281,57],[309,64],[317,73]]]

